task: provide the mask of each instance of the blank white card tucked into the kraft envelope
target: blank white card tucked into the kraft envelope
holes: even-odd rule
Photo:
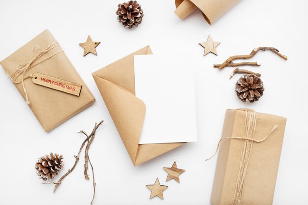
[[[136,96],[146,104],[139,144],[196,142],[194,67],[189,56],[134,56]]]

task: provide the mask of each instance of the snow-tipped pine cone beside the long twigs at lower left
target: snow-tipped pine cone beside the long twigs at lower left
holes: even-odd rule
[[[35,163],[36,174],[44,181],[53,179],[63,169],[63,156],[50,153],[37,159]]]

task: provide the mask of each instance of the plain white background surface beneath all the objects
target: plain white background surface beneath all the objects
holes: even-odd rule
[[[62,49],[92,90],[96,102],[50,133],[45,133],[14,85],[0,74],[0,205],[90,204],[92,182],[84,179],[83,159],[53,194],[53,185],[41,184],[35,175],[37,157],[59,152],[65,170],[71,168],[83,137],[95,122],[104,119],[90,149],[97,184],[96,205],[210,205],[216,158],[205,162],[216,148],[227,108],[251,108],[287,117],[274,205],[306,205],[308,184],[307,20],[305,0],[242,0],[213,26],[199,12],[185,21],[173,13],[173,0],[140,0],[142,24],[124,29],[116,20],[116,0],[0,0],[0,59],[16,51],[44,29],[50,29]],[[98,56],[83,57],[78,43],[88,34],[101,41]],[[211,34],[218,56],[203,57],[199,42]],[[193,53],[202,68],[197,70],[198,142],[188,143],[138,167],[133,167],[91,73],[150,44],[154,54]],[[254,47],[273,46],[288,56],[280,59],[260,52],[252,61],[262,63],[250,70],[262,73],[264,96],[254,104],[243,103],[234,93],[240,75],[228,80],[232,68],[218,71],[232,55],[249,54]],[[174,160],[186,172],[181,183],[165,182],[162,167]],[[149,200],[159,177],[168,185],[164,200]]]

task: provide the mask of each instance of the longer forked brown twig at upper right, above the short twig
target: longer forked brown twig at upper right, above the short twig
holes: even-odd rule
[[[240,62],[240,63],[233,63],[232,60],[237,59],[250,59],[254,57],[259,51],[272,51],[273,53],[277,54],[277,56],[281,57],[282,59],[287,60],[288,58],[279,53],[278,49],[273,47],[259,47],[255,48],[251,51],[249,55],[239,55],[239,56],[231,56],[230,58],[226,59],[222,64],[215,64],[214,67],[218,68],[218,70],[223,69],[224,67],[236,67],[236,66],[243,66],[243,65],[251,65],[251,66],[260,66],[257,62]]]

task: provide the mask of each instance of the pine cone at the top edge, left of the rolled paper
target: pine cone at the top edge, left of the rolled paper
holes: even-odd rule
[[[136,0],[130,0],[127,3],[120,3],[116,14],[118,22],[122,23],[125,28],[131,29],[141,24],[143,10]]]

